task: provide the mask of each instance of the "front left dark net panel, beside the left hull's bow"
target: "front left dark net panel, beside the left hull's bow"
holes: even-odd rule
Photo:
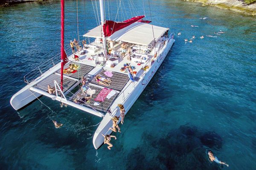
[[[56,80],[60,84],[60,82],[61,82],[60,74],[51,74],[48,77],[46,77],[45,79],[43,79],[42,81],[38,82],[34,87],[44,90],[44,91],[48,91],[48,85],[50,85],[51,87],[55,87],[54,80]],[[70,87],[75,85],[77,82],[78,82],[78,80],[64,75],[63,76],[63,91],[66,92],[67,89],[69,89]]]

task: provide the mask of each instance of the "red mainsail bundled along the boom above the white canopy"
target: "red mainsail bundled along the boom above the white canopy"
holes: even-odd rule
[[[105,37],[109,37],[111,36],[114,32],[125,28],[127,26],[130,26],[132,23],[137,22],[138,20],[141,20],[142,18],[144,18],[145,16],[137,16],[137,17],[133,17],[129,20],[125,20],[123,22],[114,22],[114,21],[109,21],[106,20],[106,23],[103,24],[103,34]]]

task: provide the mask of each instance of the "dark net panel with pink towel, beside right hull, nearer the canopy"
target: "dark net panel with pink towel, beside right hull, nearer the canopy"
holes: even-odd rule
[[[101,85],[99,84],[98,82],[96,82],[95,79],[93,79],[91,82],[93,84],[96,84],[96,85],[100,85],[100,86],[104,86],[106,88],[112,88],[112,89],[115,89],[115,90],[118,90],[118,91],[121,91],[123,87],[125,87],[126,83],[128,82],[129,80],[129,77],[128,75],[125,75],[125,74],[121,74],[121,73],[116,73],[116,72],[112,72],[113,76],[112,77],[107,77],[104,72],[106,72],[108,70],[104,70],[102,69],[102,71],[99,73],[100,76],[103,76],[105,78],[109,78],[111,79],[111,85]]]

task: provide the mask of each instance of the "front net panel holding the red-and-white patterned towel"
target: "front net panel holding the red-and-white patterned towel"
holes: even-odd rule
[[[99,92],[102,90],[102,86],[98,86],[98,85],[93,85],[92,83],[90,83],[89,88],[92,90],[96,90],[96,93],[93,94],[92,98],[81,105],[90,107],[90,108],[94,108],[98,111],[102,111],[102,112],[106,112],[108,110],[108,108],[110,107],[110,105],[112,104],[112,102],[114,101],[114,99],[116,99],[116,96],[119,95],[119,91],[116,91],[116,94],[113,95],[110,99],[106,98],[103,102],[98,102],[99,105],[93,105],[96,101],[94,100],[96,98],[96,96],[99,94]],[[81,91],[81,89],[79,89],[73,96],[70,97],[70,100],[74,101],[75,99],[81,100],[81,98],[83,97],[88,97],[89,95],[86,95],[85,93],[83,93]]]

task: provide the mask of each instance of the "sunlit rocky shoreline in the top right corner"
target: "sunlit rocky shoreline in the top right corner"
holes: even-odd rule
[[[247,15],[256,15],[256,0],[186,0],[203,3],[203,6],[217,6]]]

